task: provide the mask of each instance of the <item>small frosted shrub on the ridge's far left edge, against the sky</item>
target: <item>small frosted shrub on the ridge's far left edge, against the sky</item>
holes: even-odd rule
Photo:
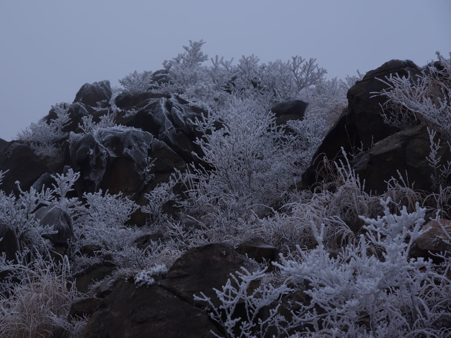
[[[66,103],[52,106],[56,114],[56,119],[51,119],[46,123],[45,118],[32,123],[28,128],[19,132],[19,140],[29,142],[32,150],[43,160],[55,162],[63,156],[61,150],[61,140],[67,137],[67,132],[63,128],[69,124],[69,105]]]

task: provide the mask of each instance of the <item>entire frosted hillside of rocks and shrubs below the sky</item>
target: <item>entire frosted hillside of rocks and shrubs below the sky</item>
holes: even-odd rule
[[[0,336],[448,337],[450,60],[203,44],[0,139]]]

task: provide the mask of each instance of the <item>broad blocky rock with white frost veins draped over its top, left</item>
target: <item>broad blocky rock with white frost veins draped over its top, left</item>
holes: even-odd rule
[[[81,171],[80,192],[108,189],[132,196],[145,186],[147,157],[156,159],[150,174],[172,173],[185,164],[164,142],[143,130],[111,127],[72,136],[70,160],[71,167]]]

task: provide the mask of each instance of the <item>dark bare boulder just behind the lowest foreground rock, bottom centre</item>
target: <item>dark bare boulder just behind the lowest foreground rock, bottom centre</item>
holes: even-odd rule
[[[221,286],[230,279],[230,274],[241,271],[241,267],[254,272],[258,264],[237,253],[230,244],[206,244],[186,251],[175,261],[160,284],[190,304],[207,306],[207,303],[194,301],[193,298],[193,295],[200,297],[203,292],[211,297],[215,306],[219,306],[222,303],[213,288],[221,290]]]

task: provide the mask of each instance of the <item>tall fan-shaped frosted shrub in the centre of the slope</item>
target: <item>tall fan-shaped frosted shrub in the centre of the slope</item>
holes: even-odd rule
[[[221,128],[214,126],[218,120]],[[259,111],[252,102],[236,102],[227,110],[210,110],[195,124],[203,134],[196,141],[205,154],[202,162],[211,169],[193,165],[184,176],[190,183],[185,206],[226,207],[236,214],[276,200],[288,183],[277,172],[282,169],[277,160],[283,156],[278,156],[271,114]]]

